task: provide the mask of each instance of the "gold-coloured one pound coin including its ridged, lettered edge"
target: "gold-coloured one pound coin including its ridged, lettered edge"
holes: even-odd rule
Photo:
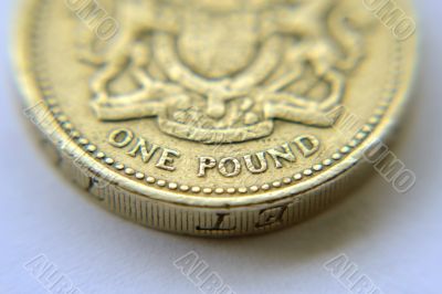
[[[150,228],[238,235],[320,211],[412,82],[406,1],[25,2],[27,115],[70,178]]]

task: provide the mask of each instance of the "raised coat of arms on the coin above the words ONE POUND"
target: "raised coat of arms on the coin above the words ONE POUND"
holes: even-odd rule
[[[336,0],[107,2],[119,32],[103,52],[91,36],[82,54],[96,67],[94,113],[156,118],[161,132],[188,140],[257,139],[275,119],[332,127],[365,56],[367,21],[344,18]]]

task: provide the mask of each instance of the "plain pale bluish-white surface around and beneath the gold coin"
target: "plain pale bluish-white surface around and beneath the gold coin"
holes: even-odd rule
[[[356,0],[355,0],[356,1]],[[442,3],[419,0],[419,88],[397,155],[418,176],[398,195],[378,175],[341,204],[261,237],[206,240],[145,229],[102,210],[41,156],[22,122],[2,1],[0,293],[46,293],[23,264],[43,253],[83,293],[199,293],[173,261],[196,251],[236,293],[347,293],[323,264],[344,253],[383,293],[442,293]]]

